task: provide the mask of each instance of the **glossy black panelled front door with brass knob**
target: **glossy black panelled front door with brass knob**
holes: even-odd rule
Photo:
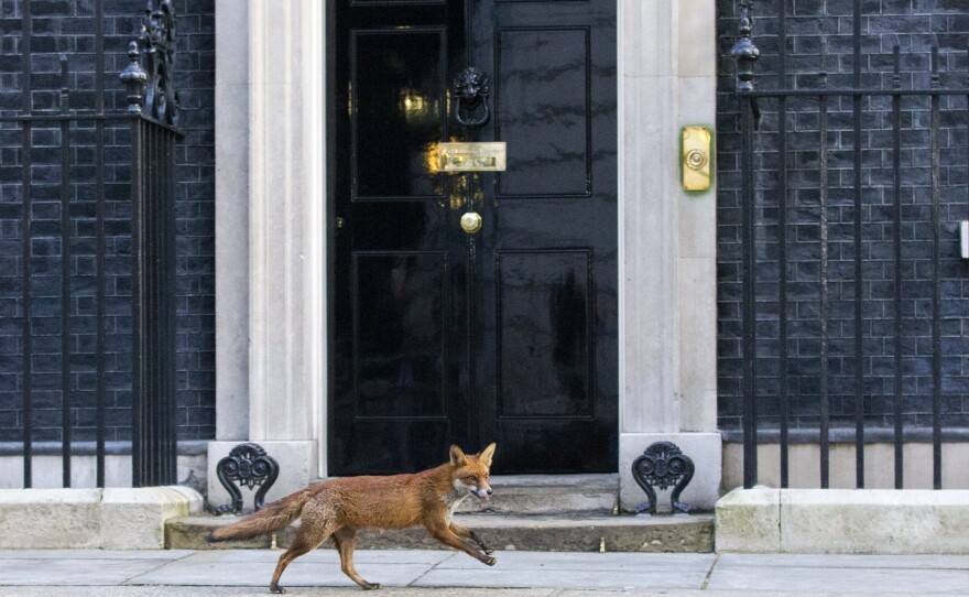
[[[614,0],[339,0],[330,22],[330,473],[490,442],[498,474],[614,471]],[[471,66],[481,127],[456,118]],[[443,141],[503,141],[507,171],[438,172]]]

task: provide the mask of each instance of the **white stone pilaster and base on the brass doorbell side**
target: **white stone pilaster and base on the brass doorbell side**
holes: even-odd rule
[[[620,478],[656,441],[693,457],[684,501],[711,508],[717,426],[716,187],[681,186],[679,134],[716,121],[714,0],[619,0]],[[712,152],[711,148],[711,152]]]

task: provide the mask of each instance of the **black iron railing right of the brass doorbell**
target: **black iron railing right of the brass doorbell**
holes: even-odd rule
[[[967,170],[962,170],[965,163],[952,162],[965,151],[952,151],[956,158],[947,158],[940,142],[952,127],[959,129],[956,135],[967,134],[967,105],[951,102],[944,107],[943,101],[966,98],[969,88],[941,85],[938,47],[930,50],[925,77],[928,84],[919,86],[922,77],[912,76],[910,69],[906,80],[915,83],[903,88],[897,45],[891,54],[891,84],[872,85],[871,80],[884,82],[888,77],[865,77],[862,72],[862,2],[856,0],[853,8],[854,67],[848,77],[839,77],[841,83],[850,80],[848,85],[828,86],[826,45],[821,39],[817,85],[788,88],[790,44],[786,9],[782,8],[773,31],[779,72],[772,73],[781,83],[779,88],[761,90],[755,86],[754,65],[760,52],[753,37],[752,2],[740,2],[740,35],[731,54],[737,61],[736,95],[740,109],[741,393],[743,484],[748,488],[758,484],[758,445],[767,438],[780,443],[782,487],[790,482],[792,441],[816,442],[820,486],[827,488],[830,444],[837,437],[854,444],[858,488],[865,487],[865,443],[888,438],[894,444],[894,485],[903,488],[904,443],[928,441],[933,446],[932,482],[940,489],[941,444],[947,437],[958,439],[966,434],[963,427],[946,430],[943,425],[941,325],[958,323],[960,316],[959,310],[944,313],[941,289],[946,281],[944,270],[948,268],[949,278],[955,278],[951,263],[958,259],[948,250],[944,254],[943,246],[956,245],[958,219],[969,218],[969,213],[965,204],[961,211],[949,208],[944,213],[944,207],[954,202],[944,205],[940,193],[944,187],[961,186],[959,192],[965,197]],[[950,119],[956,124],[940,126],[944,110],[958,113]],[[865,120],[871,111],[877,112],[877,118],[869,118],[868,122],[875,122],[874,126]],[[764,127],[762,117],[766,112],[771,122]],[[927,115],[924,121],[923,115]],[[813,152],[804,152],[803,144],[796,148],[795,169],[791,162],[795,153],[791,140],[795,134],[807,133],[795,132],[791,123],[806,118],[810,119],[810,134],[816,134],[816,142]],[[837,130],[832,124],[835,118]],[[906,141],[922,132],[928,138],[924,152],[917,143]],[[889,140],[888,144],[873,148],[872,143],[882,140]],[[891,163],[865,163],[872,149],[882,152],[879,155],[890,154]],[[950,176],[944,184],[943,167],[961,170],[961,182],[958,176]],[[792,202],[796,195],[790,178],[794,170],[802,183],[805,176],[813,177],[809,200],[796,205]],[[805,174],[806,171],[809,173]],[[927,175],[921,176],[926,171]],[[879,191],[886,200],[873,200],[867,195],[870,189]],[[837,206],[832,197],[836,192]],[[794,213],[798,215],[792,216]],[[805,213],[816,214],[809,226],[805,225]],[[877,216],[865,215],[875,213]],[[927,216],[913,222],[906,213]],[[794,221],[794,217],[801,219]],[[890,250],[889,242],[879,245],[865,239],[875,226],[889,230],[885,237],[891,238]],[[836,227],[838,237],[831,238]],[[810,257],[802,256],[799,263],[792,261],[788,251],[806,242],[805,238],[792,238],[792,230],[809,237],[812,243]],[[831,251],[838,251],[837,259]],[[792,294],[799,297],[794,307],[788,303]],[[795,308],[803,308],[805,296],[813,302],[810,313],[792,314]],[[873,301],[886,305],[889,313],[873,316],[865,306]],[[877,319],[874,324],[872,317]],[[807,340],[815,351],[814,365],[806,363],[803,351],[791,349]],[[889,348],[872,355],[870,347],[874,343]],[[919,363],[928,363],[924,370],[913,367],[916,357]],[[891,371],[873,372],[879,367]],[[871,383],[875,377],[878,383],[884,381],[891,388],[881,390],[878,383]],[[837,389],[832,388],[835,380]],[[798,388],[796,417],[816,421],[814,430],[803,423],[792,424],[793,387]],[[873,393],[879,394],[881,406],[873,406]],[[837,411],[832,406],[835,394]],[[927,413],[913,408],[913,402],[924,404]],[[765,410],[770,410],[769,416]]]

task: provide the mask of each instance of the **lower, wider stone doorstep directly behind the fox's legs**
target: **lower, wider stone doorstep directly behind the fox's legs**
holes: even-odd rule
[[[206,543],[214,529],[239,518],[186,517],[165,524],[165,546],[171,550],[266,549],[272,536]],[[677,515],[551,515],[458,514],[456,522],[469,527],[496,550],[595,552],[710,553],[714,550],[712,514]],[[276,533],[275,546],[292,544],[298,522]],[[361,550],[442,549],[424,529],[358,533]],[[331,541],[324,547],[331,546]]]

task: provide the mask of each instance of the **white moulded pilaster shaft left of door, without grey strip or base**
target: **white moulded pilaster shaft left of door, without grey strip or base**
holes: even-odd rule
[[[325,366],[322,42],[313,34],[322,7],[250,10],[249,432],[257,442],[313,441]]]

